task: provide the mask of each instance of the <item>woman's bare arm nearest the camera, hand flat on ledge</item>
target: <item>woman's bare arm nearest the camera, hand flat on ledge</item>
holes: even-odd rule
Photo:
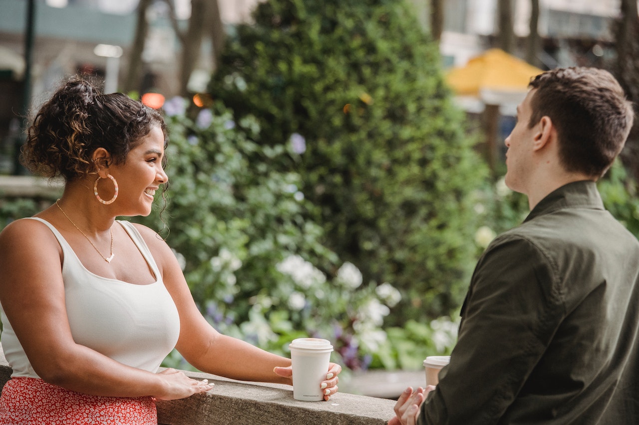
[[[39,377],[96,396],[173,399],[210,389],[183,373],[142,371],[76,344],[61,257],[57,239],[38,221],[14,221],[0,233],[0,302]]]

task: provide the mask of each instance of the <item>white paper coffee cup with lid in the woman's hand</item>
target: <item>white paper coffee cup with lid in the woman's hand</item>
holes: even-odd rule
[[[297,338],[288,346],[293,363],[293,398],[302,401],[321,401],[333,346],[328,339]]]

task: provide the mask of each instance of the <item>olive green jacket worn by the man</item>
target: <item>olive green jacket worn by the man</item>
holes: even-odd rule
[[[559,188],[480,258],[420,424],[639,424],[639,242],[594,182]]]

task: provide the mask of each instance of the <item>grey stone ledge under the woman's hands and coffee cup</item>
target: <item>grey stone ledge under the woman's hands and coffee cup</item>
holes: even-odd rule
[[[242,382],[185,371],[206,378],[215,387],[205,394],[157,401],[162,425],[385,425],[395,401],[338,392],[330,401],[297,401],[292,388],[281,384]],[[0,385],[10,379],[11,368],[0,352]]]

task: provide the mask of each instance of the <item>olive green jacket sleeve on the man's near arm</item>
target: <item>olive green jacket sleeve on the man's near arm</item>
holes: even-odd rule
[[[493,241],[473,273],[458,343],[420,424],[498,423],[562,320],[557,281],[553,260],[531,241]]]

